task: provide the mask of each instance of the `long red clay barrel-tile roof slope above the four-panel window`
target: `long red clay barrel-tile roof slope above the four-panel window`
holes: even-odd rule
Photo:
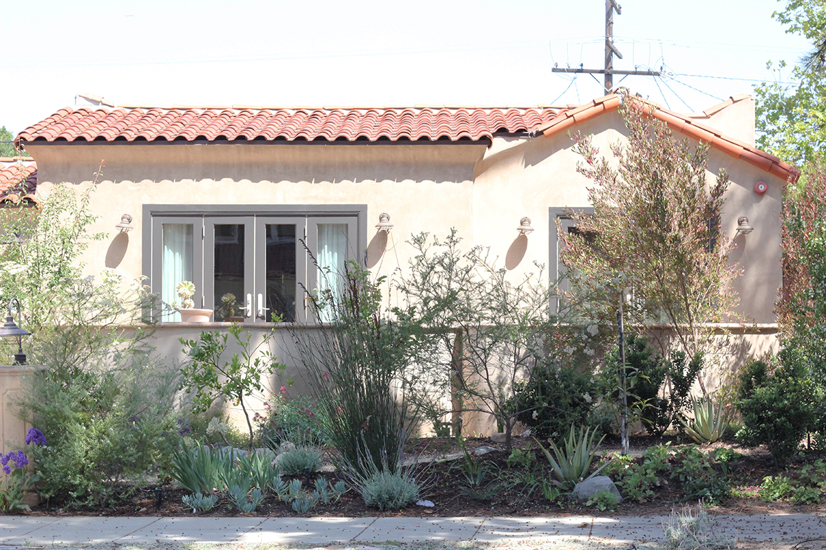
[[[349,109],[61,109],[18,134],[34,141],[489,139],[553,120],[552,107]]]

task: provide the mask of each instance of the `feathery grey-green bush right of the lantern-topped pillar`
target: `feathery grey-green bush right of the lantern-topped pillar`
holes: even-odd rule
[[[177,373],[133,362],[128,369],[78,366],[74,378],[48,370],[26,376],[24,407],[41,421],[48,447],[31,449],[38,490],[108,504],[157,475],[178,438]],[[130,480],[134,485],[124,486]]]

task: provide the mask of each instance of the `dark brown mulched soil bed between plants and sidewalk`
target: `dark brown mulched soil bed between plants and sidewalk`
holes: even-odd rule
[[[671,441],[672,445],[687,444],[689,441],[678,438],[652,438],[648,436],[637,436],[631,440],[631,449],[644,450],[649,446],[658,443]],[[468,451],[477,449],[482,445],[488,445],[496,449],[503,449],[504,445],[493,444],[491,440],[475,438],[466,440]],[[514,447],[524,449],[525,445],[531,445],[536,453],[537,462],[544,463],[545,458],[534,440],[515,439]],[[778,468],[771,461],[771,457],[765,449],[746,449],[738,444],[718,442],[705,446],[702,449],[707,452],[717,447],[727,447],[743,454],[737,462],[730,463],[729,468],[733,476],[733,486],[758,486],[762,478],[768,475],[776,476],[784,472],[783,468]],[[618,450],[619,439],[605,440],[601,449]],[[455,442],[448,438],[433,438],[415,440],[411,444],[409,454],[411,456],[437,457],[439,454],[449,454],[461,452]],[[481,460],[489,470],[487,479],[494,481],[495,472],[514,472],[515,468],[508,468],[507,454],[504,450],[482,455],[477,460]],[[667,478],[661,479],[661,487],[657,487],[655,496],[643,504],[625,501],[614,511],[600,512],[593,507],[585,507],[580,502],[570,500],[563,502],[563,505],[550,504],[544,499],[541,489],[525,497],[520,494],[520,488],[507,487],[501,484],[495,491],[491,491],[491,496],[486,500],[476,500],[463,493],[464,477],[460,468],[464,458],[457,458],[444,462],[427,463],[420,467],[420,476],[431,480],[430,491],[424,496],[432,501],[431,508],[413,505],[404,510],[393,510],[380,512],[364,505],[360,496],[354,491],[348,491],[340,501],[330,504],[319,504],[307,515],[329,516],[329,517],[360,517],[360,516],[385,516],[385,517],[456,517],[456,516],[491,516],[491,515],[515,515],[515,516],[556,516],[556,515],[598,515],[610,517],[640,516],[640,515],[667,515],[672,509],[679,507],[684,501],[684,493],[681,485],[676,480]],[[335,472],[320,472],[311,477],[311,482],[316,476],[326,477],[330,482],[338,480]],[[312,486],[311,486],[312,487]],[[192,509],[183,505],[181,497],[187,494],[183,489],[171,484],[160,486],[160,501],[156,487],[142,487],[128,498],[123,499],[116,505],[106,508],[84,508],[71,507],[70,501],[61,501],[53,498],[48,505],[45,503],[36,506],[30,515],[106,515],[106,516],[187,516],[192,515]],[[201,515],[209,516],[236,516],[240,515],[234,506],[228,505],[229,501],[225,497],[218,501],[215,508]],[[811,513],[824,512],[824,505],[795,506],[790,502],[764,502],[754,498],[731,498],[726,505],[715,507],[713,512],[721,514],[777,514],[777,513]],[[270,517],[292,517],[296,512],[292,507],[274,495],[268,495],[263,505],[251,514],[254,516]]]

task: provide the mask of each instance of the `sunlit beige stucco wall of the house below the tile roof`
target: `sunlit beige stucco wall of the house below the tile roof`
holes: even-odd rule
[[[723,126],[725,134],[753,141],[753,102],[738,101],[704,120],[713,122]],[[624,126],[619,114],[612,113],[575,129],[594,134],[596,146],[609,153],[609,144],[623,139]],[[491,247],[491,255],[516,279],[535,270],[534,261],[553,263],[548,257],[553,223],[548,209],[587,206],[590,184],[576,172],[579,158],[571,151],[572,143],[563,133],[549,139],[541,134],[496,137],[490,148],[483,143],[121,142],[33,143],[26,149],[36,158],[38,190],[45,194],[58,181],[78,189],[91,186],[99,162],[106,162],[91,204],[101,216],[93,231],[109,237],[86,253],[92,274],[104,267],[116,267],[130,277],[144,272],[143,204],[271,204],[273,210],[279,204],[366,204],[368,264],[376,275],[406,270],[411,234],[444,236],[456,228],[468,246]],[[740,215],[747,215],[755,228],[736,237],[731,255],[743,269],[734,283],[741,313],[752,322],[773,323],[781,286],[785,182],[712,150],[710,181],[721,167],[731,179],[722,217],[725,234],[733,238]],[[753,191],[757,181],[767,181],[765,195]],[[382,212],[392,216],[395,226],[387,242],[373,228]],[[133,216],[135,231],[128,235],[115,231],[121,214]],[[535,231],[517,238],[523,216],[531,219]],[[164,327],[155,336],[159,350],[170,359],[180,355],[179,328]],[[755,338],[750,344],[754,350],[775,345],[771,328],[749,336]]]

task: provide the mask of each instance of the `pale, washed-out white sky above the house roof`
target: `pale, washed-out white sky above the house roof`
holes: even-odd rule
[[[775,0],[619,0],[622,86],[703,110],[809,49]],[[535,106],[602,95],[605,0],[30,0],[3,7],[0,125],[17,133],[77,93],[116,103]],[[780,75],[788,80],[790,69]],[[700,75],[700,76],[691,76]],[[615,85],[621,77],[615,77]]]

